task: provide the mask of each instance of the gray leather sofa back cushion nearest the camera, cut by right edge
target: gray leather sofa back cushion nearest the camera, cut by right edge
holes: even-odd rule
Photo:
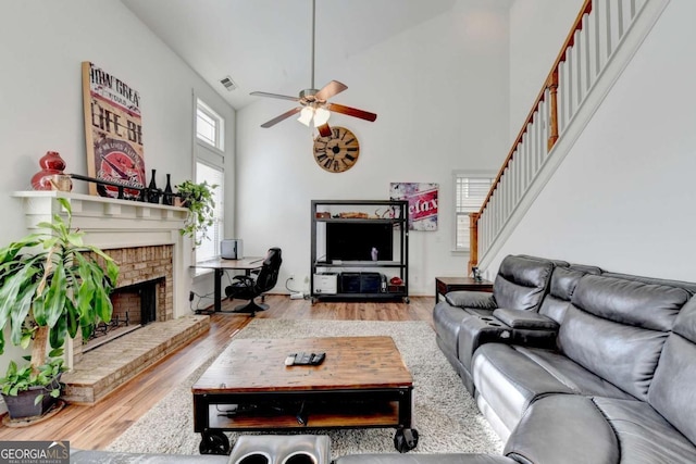
[[[695,299],[684,306],[664,343],[648,391],[648,402],[696,443]]]

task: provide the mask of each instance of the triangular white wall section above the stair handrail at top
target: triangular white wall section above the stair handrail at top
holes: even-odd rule
[[[510,8],[510,143],[544,87],[584,0],[524,0]]]

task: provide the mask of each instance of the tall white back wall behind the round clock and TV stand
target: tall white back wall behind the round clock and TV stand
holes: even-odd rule
[[[291,288],[308,289],[312,199],[387,199],[391,181],[438,183],[438,230],[410,235],[410,290],[433,294],[437,275],[462,275],[469,256],[451,252],[451,173],[497,170],[506,155],[508,8],[460,0],[343,66],[323,70],[318,55],[318,86],[338,79],[349,87],[333,101],[378,114],[375,123],[332,115],[330,123],[351,129],[361,145],[346,173],[315,164],[311,133],[298,122],[259,127],[290,102],[259,100],[239,111],[237,233],[245,254],[279,246],[279,283],[294,274]]]

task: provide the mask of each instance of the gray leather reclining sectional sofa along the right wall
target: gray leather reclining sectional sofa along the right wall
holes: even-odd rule
[[[695,293],[696,284],[507,256],[493,293],[450,292],[433,313],[440,350],[507,440],[504,455],[335,464],[696,463]],[[165,462],[96,454],[74,462]]]

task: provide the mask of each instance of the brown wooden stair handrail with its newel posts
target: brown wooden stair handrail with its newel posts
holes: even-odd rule
[[[498,175],[493,181],[493,185],[490,186],[490,190],[488,190],[488,195],[486,196],[486,199],[481,205],[481,210],[478,210],[478,213],[470,214],[470,217],[471,217],[470,227],[472,233],[470,236],[471,255],[469,260],[469,273],[471,273],[471,268],[478,263],[478,240],[477,240],[478,218],[481,217],[484,210],[488,205],[488,202],[490,201],[490,198],[493,197],[493,193],[495,192],[495,190],[498,188],[498,185],[500,185],[500,179],[502,178],[502,174],[505,173],[505,170],[510,165],[510,162],[514,158],[514,153],[518,149],[518,146],[522,142],[522,139],[527,131],[527,127],[534,121],[534,114],[537,112],[542,102],[544,102],[546,97],[546,90],[549,90],[549,100],[550,100],[549,101],[549,106],[550,106],[549,108],[549,133],[548,133],[549,135],[547,140],[548,151],[550,151],[551,148],[554,148],[554,146],[556,145],[556,141],[558,140],[558,137],[559,137],[558,97],[557,97],[558,70],[560,64],[566,61],[568,50],[575,42],[575,32],[582,30],[583,28],[583,16],[592,12],[592,7],[593,7],[592,0],[585,0],[585,2],[583,3],[583,7],[577,13],[577,16],[575,17],[575,21],[573,22],[573,25],[570,32],[568,33],[568,36],[566,37],[566,40],[563,41],[563,46],[561,47],[561,50],[558,53],[558,57],[556,58],[554,65],[551,66],[551,71],[548,73],[548,76],[544,81],[544,86],[542,87],[542,90],[539,90],[538,95],[536,96],[536,100],[534,100],[534,104],[532,104],[532,109],[527,113],[524,120],[524,123],[522,124],[522,128],[518,133],[518,136],[515,137],[514,142],[512,143],[512,147],[510,148],[510,151],[508,152],[508,155],[506,156],[502,163],[502,167],[500,167],[500,171],[498,171]]]

